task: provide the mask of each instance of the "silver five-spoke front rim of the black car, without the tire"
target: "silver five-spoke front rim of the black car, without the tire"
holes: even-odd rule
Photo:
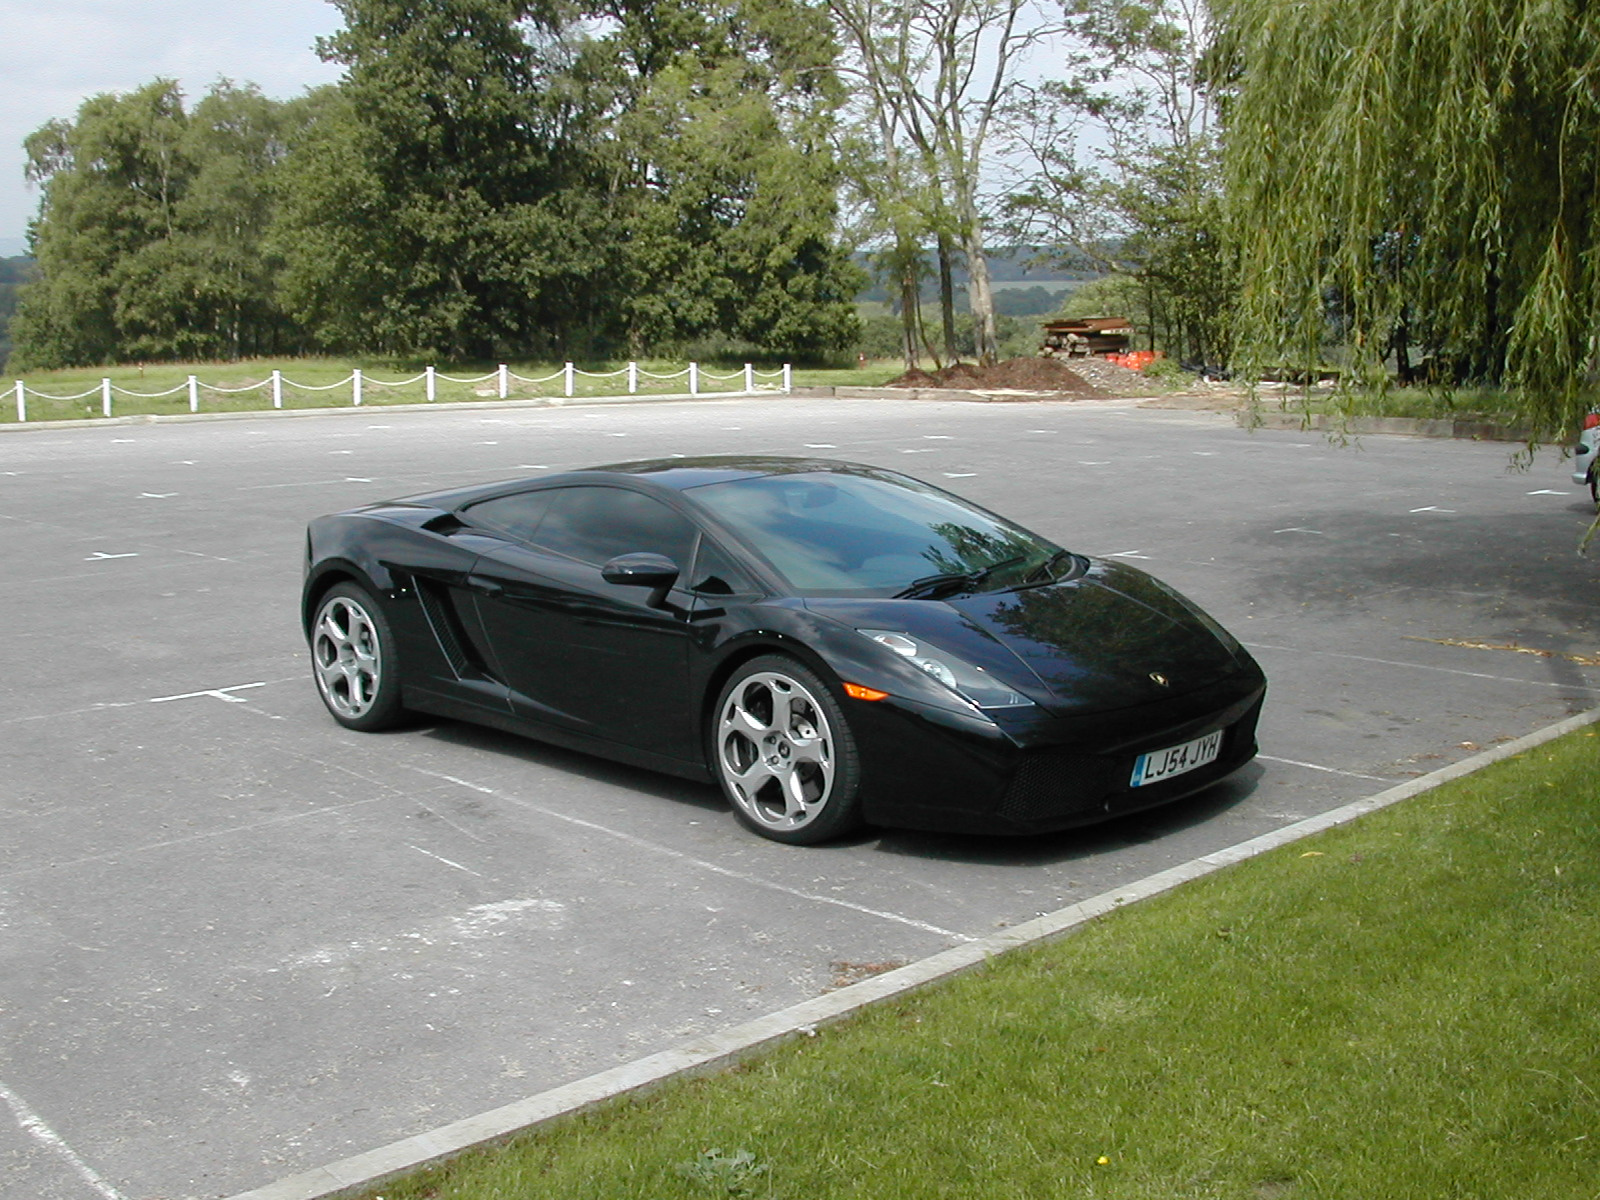
[[[803,829],[834,792],[834,736],[822,706],[782,672],[747,677],[717,717],[717,768],[755,824]]]

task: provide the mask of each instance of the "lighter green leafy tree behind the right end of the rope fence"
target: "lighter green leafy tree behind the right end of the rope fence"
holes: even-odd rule
[[[800,0],[621,0],[590,46],[627,346],[723,334],[818,355],[856,333],[826,18]]]

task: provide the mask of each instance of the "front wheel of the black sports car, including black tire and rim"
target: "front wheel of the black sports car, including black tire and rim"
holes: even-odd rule
[[[787,654],[741,666],[712,710],[707,765],[755,834],[814,845],[861,826],[861,758],[834,688]]]

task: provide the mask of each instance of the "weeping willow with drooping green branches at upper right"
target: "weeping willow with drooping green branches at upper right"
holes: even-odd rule
[[[1571,427],[1600,328],[1600,11],[1218,0],[1246,350],[1506,382]],[[1421,352],[1421,362],[1413,352]]]

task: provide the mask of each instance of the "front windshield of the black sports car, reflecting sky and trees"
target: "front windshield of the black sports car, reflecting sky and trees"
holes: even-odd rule
[[[810,595],[995,590],[1043,582],[1066,558],[1043,538],[904,477],[798,472],[691,494]]]

